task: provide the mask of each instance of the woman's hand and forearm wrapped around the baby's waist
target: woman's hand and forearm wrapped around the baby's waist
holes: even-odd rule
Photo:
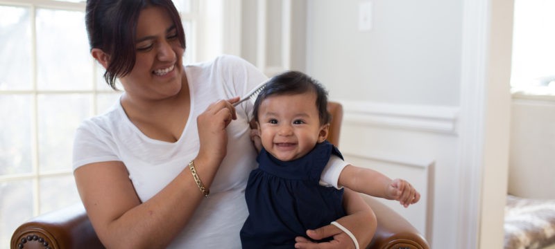
[[[360,248],[366,248],[374,237],[377,221],[372,209],[364,202],[357,192],[345,188],[343,192],[343,205],[347,216],[338,219],[337,222],[347,228],[359,243]],[[319,240],[333,237],[332,241],[315,243],[305,237],[296,237],[295,248],[305,249],[328,249],[328,248],[355,248],[355,243],[349,235],[335,225],[325,225],[316,230],[307,230],[310,239]]]

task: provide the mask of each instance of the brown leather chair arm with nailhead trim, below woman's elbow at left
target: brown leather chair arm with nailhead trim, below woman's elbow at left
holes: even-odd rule
[[[12,234],[15,248],[104,248],[81,203],[36,216]]]

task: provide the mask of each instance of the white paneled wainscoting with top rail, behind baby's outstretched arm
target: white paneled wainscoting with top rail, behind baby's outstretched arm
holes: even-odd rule
[[[431,245],[432,240],[454,239],[442,234],[454,232],[443,224],[457,219],[453,212],[458,201],[454,193],[459,192],[459,108],[334,101],[343,105],[339,149],[345,160],[390,178],[404,178],[421,194],[409,208],[398,201],[379,201],[407,219]]]

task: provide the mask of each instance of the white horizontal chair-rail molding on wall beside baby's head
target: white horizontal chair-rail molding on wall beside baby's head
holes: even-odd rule
[[[458,107],[334,100],[343,105],[343,122],[392,129],[458,134]]]

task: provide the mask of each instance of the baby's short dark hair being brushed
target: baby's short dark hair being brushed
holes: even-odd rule
[[[332,120],[327,112],[327,91],[324,86],[309,75],[299,71],[286,71],[272,77],[258,94],[255,101],[253,113],[255,121],[258,122],[258,109],[262,101],[271,95],[294,95],[299,93],[316,93],[316,108],[320,117],[320,124],[327,124]]]

